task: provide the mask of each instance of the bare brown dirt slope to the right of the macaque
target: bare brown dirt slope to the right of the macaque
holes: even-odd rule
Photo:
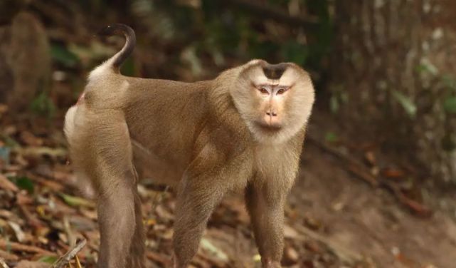
[[[386,190],[372,189],[334,159],[304,153],[290,203],[327,227],[323,237],[338,247],[371,257],[378,267],[456,267],[456,224],[435,211],[411,215]]]

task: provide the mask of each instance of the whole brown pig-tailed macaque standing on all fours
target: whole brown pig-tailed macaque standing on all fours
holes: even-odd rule
[[[117,33],[124,47],[90,73],[65,117],[78,183],[95,190],[98,267],[144,267],[137,147],[176,187],[174,267],[189,265],[211,212],[236,190],[245,191],[263,267],[280,267],[284,205],[314,103],[309,74],[253,60],[195,83],[122,76],[136,41],[122,24],[101,31]]]

